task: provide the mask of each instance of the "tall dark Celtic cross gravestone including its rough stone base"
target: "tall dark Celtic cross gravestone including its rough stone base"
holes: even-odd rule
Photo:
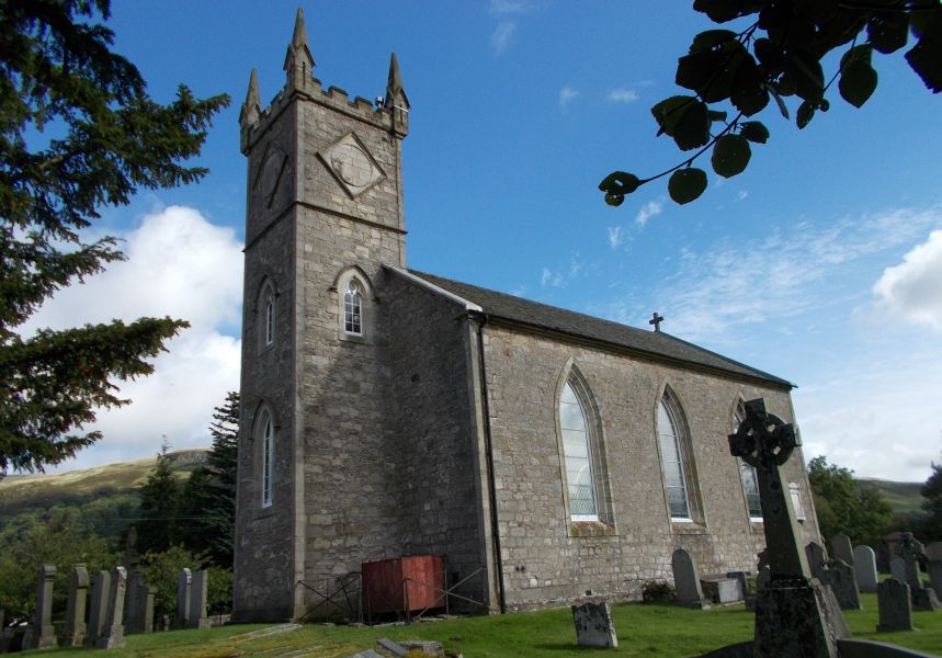
[[[729,452],[756,468],[769,559],[769,585],[757,595],[757,656],[837,656],[850,636],[833,594],[812,578],[782,466],[801,445],[792,424],[746,402],[746,420],[729,436]]]

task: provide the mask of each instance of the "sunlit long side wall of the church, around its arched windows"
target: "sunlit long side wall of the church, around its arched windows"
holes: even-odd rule
[[[727,434],[738,399],[765,397],[793,420],[790,395],[745,381],[642,361],[490,325],[487,382],[501,559],[511,609],[593,593],[637,597],[670,580],[670,556],[688,549],[702,574],[756,570],[762,524],[750,522]],[[571,361],[570,361],[571,360]],[[558,389],[567,364],[583,377],[601,420],[611,490],[610,524],[572,522],[565,507],[557,440]],[[693,447],[694,522],[669,517],[655,422],[665,386],[683,410]],[[801,455],[788,464],[817,536]],[[689,478],[690,479],[690,478]],[[695,487],[695,488],[694,488]]]

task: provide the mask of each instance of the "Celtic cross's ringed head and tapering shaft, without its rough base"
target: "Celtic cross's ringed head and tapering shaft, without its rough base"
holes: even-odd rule
[[[765,411],[765,400],[746,402],[746,420],[729,435],[729,452],[756,469],[765,546],[772,580],[810,578],[808,560],[802,548],[802,534],[792,509],[792,497],[781,467],[802,444],[795,428]]]

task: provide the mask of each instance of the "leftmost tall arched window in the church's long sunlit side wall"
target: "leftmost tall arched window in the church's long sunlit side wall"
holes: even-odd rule
[[[569,513],[574,521],[598,521],[599,501],[592,467],[589,422],[582,401],[569,381],[563,385],[559,396],[559,428],[563,431]]]

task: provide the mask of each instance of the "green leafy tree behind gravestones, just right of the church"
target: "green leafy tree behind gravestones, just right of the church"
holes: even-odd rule
[[[842,532],[854,545],[874,546],[889,531],[893,508],[878,490],[854,481],[850,468],[818,456],[808,462],[808,481],[825,541]]]

